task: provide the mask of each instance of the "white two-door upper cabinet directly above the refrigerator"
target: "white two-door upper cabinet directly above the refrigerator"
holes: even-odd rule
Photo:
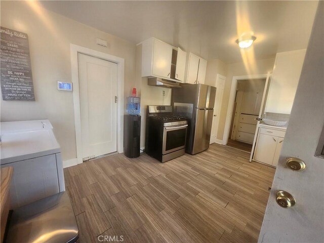
[[[188,64],[188,84],[204,84],[206,75],[207,61],[192,53],[189,54]]]

